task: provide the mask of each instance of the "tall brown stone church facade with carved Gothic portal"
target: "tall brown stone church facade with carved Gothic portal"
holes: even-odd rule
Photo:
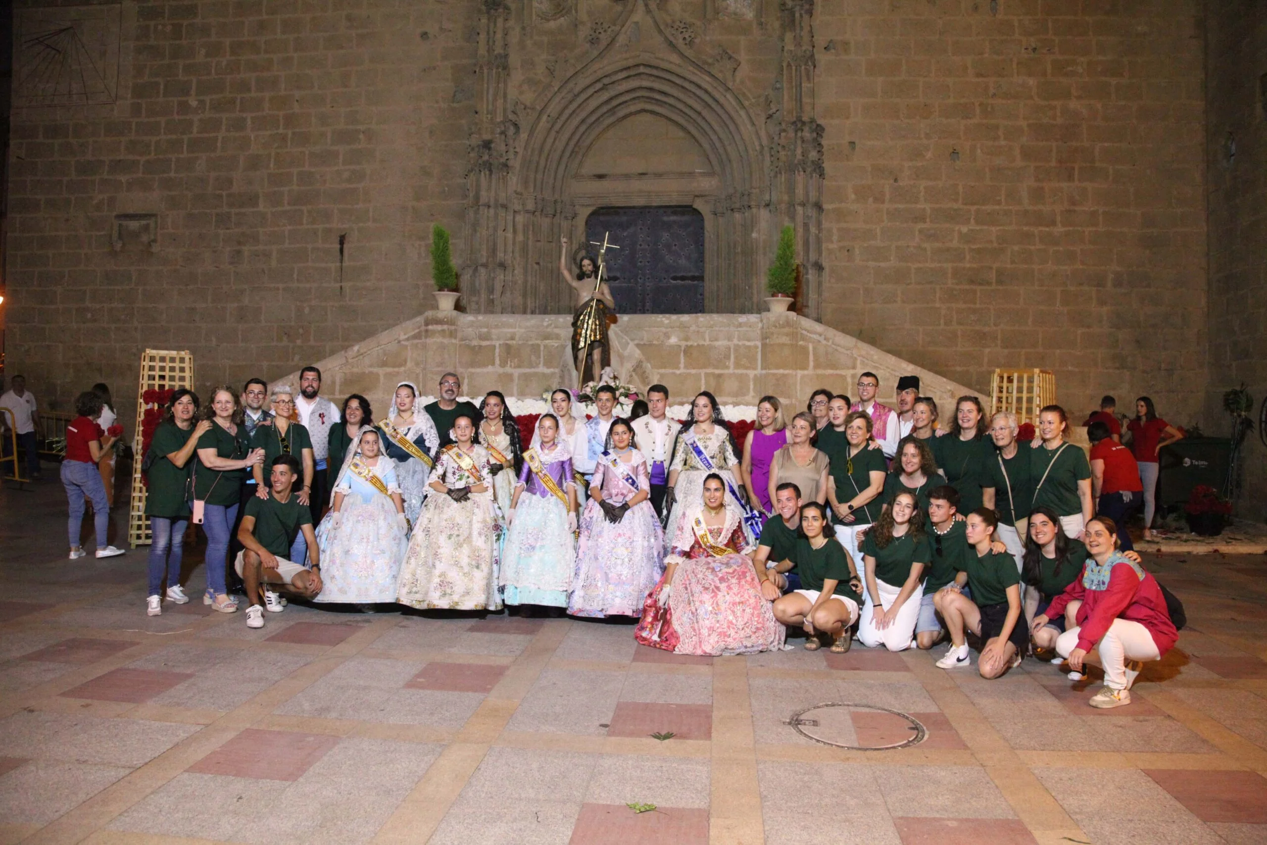
[[[432,307],[433,223],[469,313],[566,313],[561,237],[571,261],[595,213],[674,208],[707,313],[761,308],[791,224],[805,315],[1188,423],[1211,337],[1252,334],[1207,303],[1206,87],[1259,43],[1220,65],[1211,33],[1258,15],[1216,5],[20,0],[10,369],[62,403],[131,400],[144,346],[207,385],[289,372]]]

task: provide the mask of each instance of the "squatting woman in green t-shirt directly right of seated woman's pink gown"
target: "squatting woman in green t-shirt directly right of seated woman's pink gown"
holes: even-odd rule
[[[853,561],[835,538],[827,537],[827,508],[817,502],[801,505],[801,531],[792,560],[801,574],[801,589],[774,602],[774,618],[805,628],[805,647],[821,647],[818,633],[831,636],[831,650],[849,651],[849,626],[858,621],[862,581]]]

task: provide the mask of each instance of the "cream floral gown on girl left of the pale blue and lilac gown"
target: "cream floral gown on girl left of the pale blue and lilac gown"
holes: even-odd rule
[[[432,478],[449,489],[487,485],[492,462],[488,450],[476,445],[468,455],[479,473],[478,480],[461,467],[449,447],[440,451]],[[500,513],[490,490],[471,493],[465,502],[454,502],[432,490],[409,540],[397,599],[417,608],[500,609],[497,589],[500,530]]]

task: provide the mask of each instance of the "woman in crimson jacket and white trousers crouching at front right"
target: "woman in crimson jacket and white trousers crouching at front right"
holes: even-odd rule
[[[1100,709],[1123,707],[1130,703],[1129,690],[1139,677],[1140,661],[1161,660],[1180,635],[1157,579],[1117,551],[1112,519],[1092,518],[1086,527],[1086,545],[1091,557],[1082,574],[1052,599],[1047,613],[1035,617],[1034,623],[1060,618],[1067,604],[1078,602],[1078,626],[1057,639],[1055,651],[1068,659],[1071,669],[1082,671],[1083,658],[1097,649],[1105,687],[1090,704]]]

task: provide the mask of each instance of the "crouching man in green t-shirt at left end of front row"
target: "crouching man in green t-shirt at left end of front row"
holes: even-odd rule
[[[248,628],[264,627],[265,604],[274,612],[283,609],[277,592],[307,599],[321,593],[321,552],[313,532],[312,511],[294,495],[298,478],[299,459],[277,455],[270,466],[269,498],[251,497],[246,504],[238,528],[238,542],[243,550],[238,552],[233,568],[246,587]],[[312,569],[286,560],[300,531],[308,542]]]

